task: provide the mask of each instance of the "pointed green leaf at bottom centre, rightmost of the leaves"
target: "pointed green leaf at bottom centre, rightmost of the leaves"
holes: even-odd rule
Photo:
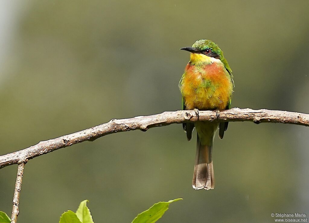
[[[170,204],[174,201],[182,200],[182,198],[177,198],[175,200],[161,201],[154,204],[150,209],[138,214],[132,223],[154,223],[158,221],[162,215],[167,211]]]

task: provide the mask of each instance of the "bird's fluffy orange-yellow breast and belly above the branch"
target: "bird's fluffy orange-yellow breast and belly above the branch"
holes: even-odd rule
[[[233,85],[222,64],[196,67],[189,63],[180,90],[186,109],[224,110],[231,99]]]

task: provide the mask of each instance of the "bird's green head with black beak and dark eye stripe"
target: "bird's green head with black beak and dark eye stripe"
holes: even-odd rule
[[[222,50],[218,47],[218,45],[216,43],[214,43],[211,40],[200,39],[200,40],[197,40],[192,45],[192,47],[184,47],[184,48],[181,48],[181,50],[186,50],[186,51],[189,51],[193,54],[204,54],[206,56],[213,57],[215,59],[219,59],[219,60],[221,60],[221,62],[226,67],[226,70],[229,73],[232,73],[232,70],[231,70],[229,64],[227,63],[226,59],[223,56]]]

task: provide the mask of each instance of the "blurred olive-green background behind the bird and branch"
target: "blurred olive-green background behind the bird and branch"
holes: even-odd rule
[[[211,39],[235,80],[233,107],[309,111],[308,1],[0,2],[0,154],[112,118],[181,108],[181,47]],[[196,133],[195,133],[196,134]],[[216,187],[191,186],[195,137],[181,125],[112,134],[30,160],[20,222],[58,222],[80,201],[95,222],[273,222],[309,214],[308,128],[230,123],[214,142]],[[11,215],[17,166],[0,170]]]

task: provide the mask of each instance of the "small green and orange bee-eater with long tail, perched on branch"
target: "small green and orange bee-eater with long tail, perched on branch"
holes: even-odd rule
[[[182,109],[224,110],[231,108],[234,89],[232,70],[222,50],[211,40],[197,40],[192,47],[181,50],[190,52],[190,61],[179,82],[182,94]],[[214,189],[214,167],[212,160],[213,141],[219,127],[223,138],[228,122],[183,123],[188,141],[197,130],[197,150],[192,186],[194,189]]]

